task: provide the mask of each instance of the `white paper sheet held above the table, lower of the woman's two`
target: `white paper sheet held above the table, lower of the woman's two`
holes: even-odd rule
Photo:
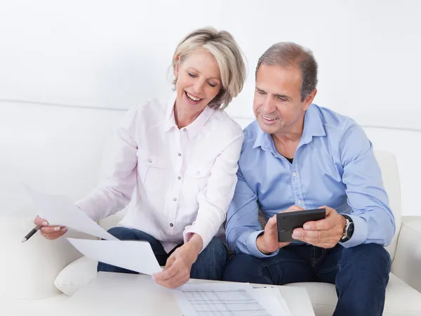
[[[149,242],[74,238],[67,240],[82,254],[96,261],[147,275],[162,271]]]

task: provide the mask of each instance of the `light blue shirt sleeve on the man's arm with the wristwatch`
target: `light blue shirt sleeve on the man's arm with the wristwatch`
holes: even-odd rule
[[[395,232],[394,216],[383,185],[380,166],[373,153],[373,145],[361,126],[349,120],[340,140],[342,181],[347,186],[349,215],[354,233],[342,246],[363,243],[389,245]]]

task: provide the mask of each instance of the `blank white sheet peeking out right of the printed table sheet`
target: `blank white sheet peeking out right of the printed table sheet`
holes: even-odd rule
[[[293,316],[288,308],[288,304],[282,297],[279,289],[274,287],[255,288],[255,297],[264,303],[269,312],[279,316]],[[257,295],[257,296],[256,296]]]

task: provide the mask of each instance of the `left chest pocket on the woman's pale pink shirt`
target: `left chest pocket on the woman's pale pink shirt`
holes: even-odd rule
[[[162,190],[166,176],[166,162],[159,157],[138,150],[138,177],[146,191]]]

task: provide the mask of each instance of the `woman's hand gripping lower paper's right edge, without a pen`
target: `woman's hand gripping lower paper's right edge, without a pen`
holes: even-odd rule
[[[175,289],[187,283],[190,279],[192,265],[202,248],[203,240],[200,235],[194,234],[189,242],[175,249],[173,254],[167,259],[162,272],[152,275],[155,282],[169,289]]]

